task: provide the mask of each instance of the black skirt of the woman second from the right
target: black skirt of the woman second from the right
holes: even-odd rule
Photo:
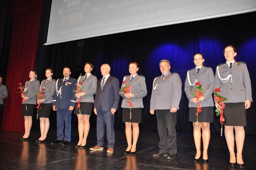
[[[202,107],[201,112],[198,113],[198,122],[213,122],[214,109],[210,107]],[[189,121],[196,122],[196,108],[189,108]]]

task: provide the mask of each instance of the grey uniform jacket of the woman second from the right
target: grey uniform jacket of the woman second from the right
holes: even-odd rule
[[[193,86],[190,85],[189,80],[191,84],[194,84]],[[202,85],[202,89],[204,89],[203,92],[205,99],[202,102],[200,102],[200,106],[214,106],[212,99],[212,92],[214,91],[214,73],[212,71],[212,68],[202,66],[198,74],[196,68],[188,71],[184,88],[186,96],[189,100],[188,107],[197,108],[197,104],[190,101],[192,98],[194,98],[194,96],[192,96],[192,94],[189,93],[195,92],[193,88],[196,88],[196,80],[197,82],[200,82],[200,84]]]

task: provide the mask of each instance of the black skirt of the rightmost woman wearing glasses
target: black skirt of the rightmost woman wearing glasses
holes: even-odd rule
[[[223,122],[226,126],[246,126],[246,109],[244,102],[225,103],[223,110]]]

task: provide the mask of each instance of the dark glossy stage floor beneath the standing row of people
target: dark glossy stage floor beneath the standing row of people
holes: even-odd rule
[[[46,143],[36,143],[38,132],[31,132],[30,141],[20,141],[21,133],[0,133],[0,170],[228,170],[229,154],[225,137],[211,135],[208,150],[209,162],[193,162],[195,148],[192,134],[178,134],[178,153],[174,159],[153,157],[158,151],[158,134],[140,132],[136,154],[124,155],[125,132],[116,130],[114,153],[90,151],[96,145],[96,130],[91,129],[86,148],[75,148],[78,130],[72,129],[72,140],[68,146],[52,145],[55,130],[50,130]],[[106,139],[105,139],[106,140]],[[243,158],[246,170],[256,170],[256,136],[246,136]],[[239,169],[239,168],[233,168]]]

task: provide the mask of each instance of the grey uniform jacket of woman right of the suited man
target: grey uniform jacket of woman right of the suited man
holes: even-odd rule
[[[126,84],[122,83],[121,88],[124,86],[130,86],[130,92],[134,94],[134,97],[130,98],[130,102],[132,103],[132,107],[134,108],[143,108],[143,102],[142,98],[147,95],[147,87],[145,82],[145,77],[142,75],[136,74],[131,82],[131,76],[124,76],[124,80],[126,81]],[[123,80],[123,81],[124,81]],[[128,98],[124,97],[123,92],[119,92],[120,96],[122,96],[122,108],[130,108],[130,105],[128,102]]]

